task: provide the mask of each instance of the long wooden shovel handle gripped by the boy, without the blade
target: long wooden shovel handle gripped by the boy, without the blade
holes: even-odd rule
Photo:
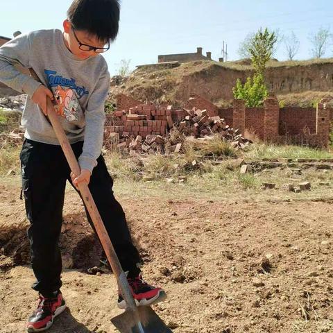
[[[35,78],[38,82],[40,82],[40,78],[38,78],[37,74],[33,69],[29,69],[31,76]],[[49,96],[46,97],[47,102],[47,117],[51,122],[54,132],[56,133],[56,137],[60,143],[62,151],[65,154],[66,160],[69,164],[71,171],[77,176],[80,175],[80,166],[78,161],[76,160],[76,156],[74,155],[73,149],[69,144],[67,136],[65,134],[64,129],[58,119],[58,115],[56,114],[56,110],[54,110],[53,103]],[[94,199],[92,198],[92,194],[89,191],[88,185],[85,182],[80,182],[78,184],[78,190],[83,198],[85,206],[89,212],[90,217],[92,218],[92,222],[94,223],[94,227],[96,229],[97,235],[101,241],[103,249],[105,251],[106,256],[108,257],[108,261],[112,267],[113,273],[117,276],[117,281],[119,287],[121,289],[121,294],[123,298],[126,300],[126,305],[130,307],[130,309],[136,310],[136,305],[133,300],[133,296],[130,292],[130,287],[128,286],[128,282],[126,279],[125,273],[123,273],[123,268],[121,268],[121,264],[117,257],[116,251],[112,246],[112,242],[108,235],[108,232],[105,229],[104,223],[101,219],[101,215],[97,210]]]

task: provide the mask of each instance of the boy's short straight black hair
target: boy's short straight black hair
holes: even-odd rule
[[[76,30],[87,31],[101,41],[113,41],[118,35],[119,12],[119,0],[74,0],[67,19]]]

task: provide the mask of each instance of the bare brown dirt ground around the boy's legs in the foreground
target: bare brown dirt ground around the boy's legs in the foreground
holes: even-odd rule
[[[20,333],[36,305],[28,222],[19,182],[0,183],[0,332]],[[154,309],[173,332],[333,332],[333,200],[147,193],[117,198],[144,278],[169,295]],[[121,312],[116,282],[72,190],[60,246],[68,309],[49,332],[117,332],[110,322]],[[101,275],[86,273],[99,264]]]

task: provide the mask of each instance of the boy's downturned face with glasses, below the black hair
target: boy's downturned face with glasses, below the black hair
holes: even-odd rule
[[[63,26],[66,34],[65,39],[67,42],[67,48],[80,60],[85,60],[99,54],[93,49],[91,51],[83,51],[80,47],[87,49],[87,45],[97,48],[105,48],[108,46],[101,42],[97,36],[92,35],[87,31],[74,30],[68,19],[65,20]],[[83,44],[85,44],[85,46],[83,46]]]

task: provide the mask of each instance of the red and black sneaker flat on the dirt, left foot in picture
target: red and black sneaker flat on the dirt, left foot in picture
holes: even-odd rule
[[[66,303],[62,298],[61,291],[58,291],[52,298],[46,298],[40,293],[40,302],[37,310],[28,319],[26,325],[28,332],[42,332],[48,330],[53,319],[66,309]]]

